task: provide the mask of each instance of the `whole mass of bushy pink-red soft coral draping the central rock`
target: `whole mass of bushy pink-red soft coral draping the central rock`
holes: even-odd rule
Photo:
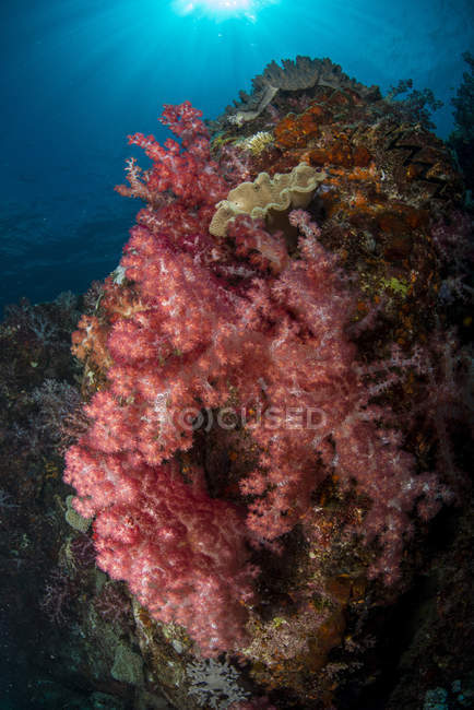
[[[370,497],[358,532],[379,536],[372,572],[390,580],[411,510],[422,495],[435,500],[437,487],[415,476],[400,438],[377,425],[381,412],[346,334],[353,296],[317,225],[291,215],[298,258],[284,234],[248,217],[214,241],[209,224],[228,185],[200,114],[185,103],[163,120],[181,145],[131,138],[153,167],[140,174],[131,164],[120,191],[149,204],[125,248],[126,280],[106,285],[107,338],[83,324],[86,348],[100,334],[107,381],[85,406],[91,426],[67,454],[64,480],[78,511],[96,516],[98,565],[211,655],[245,640],[256,575],[247,543],[293,530],[329,472]],[[240,506],[238,496],[210,495],[193,451],[200,413],[229,405],[254,449]]]

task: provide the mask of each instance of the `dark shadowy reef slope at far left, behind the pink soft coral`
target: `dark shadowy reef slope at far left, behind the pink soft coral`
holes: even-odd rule
[[[80,401],[70,342],[83,308],[70,293],[48,304],[22,300],[0,323],[0,634],[9,707],[127,710],[142,702],[140,687],[110,675],[119,640],[132,642],[129,596],[115,594],[115,611],[118,599],[122,604],[114,624],[99,602],[95,612],[103,587],[122,585],[106,583],[90,534],[67,521],[61,451],[71,445]],[[169,708],[159,693],[147,695],[153,707]]]

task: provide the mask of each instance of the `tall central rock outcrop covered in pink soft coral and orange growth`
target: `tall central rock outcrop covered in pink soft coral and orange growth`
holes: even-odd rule
[[[299,549],[294,627],[272,632],[299,634],[280,652],[300,643],[300,659],[310,629],[321,667],[341,640],[344,579],[353,595],[362,578],[401,589],[417,525],[454,495],[452,461],[440,475],[405,439],[424,416],[406,402],[436,380],[406,308],[418,288],[437,297],[420,276],[434,258],[424,200],[457,182],[416,163],[448,158],[402,115],[329,60],[301,59],[271,64],[212,143],[188,102],[161,118],[176,139],[130,137],[152,167],[130,159],[117,189],[145,206],[73,335],[92,397],[64,481],[95,519],[97,565],[204,658],[264,656],[261,570]],[[410,146],[403,175],[382,143]],[[380,319],[386,343],[371,335]]]

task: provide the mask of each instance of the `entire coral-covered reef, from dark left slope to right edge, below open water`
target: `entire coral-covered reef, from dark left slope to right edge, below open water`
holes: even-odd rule
[[[75,689],[36,707],[471,697],[462,177],[406,82],[298,58],[253,87],[211,132],[186,102],[164,145],[130,137],[151,167],[117,188],[144,202],[118,268],[0,328],[3,561],[37,577],[39,665],[56,643]],[[261,174],[298,170],[270,218]],[[212,227],[256,189],[262,212]]]

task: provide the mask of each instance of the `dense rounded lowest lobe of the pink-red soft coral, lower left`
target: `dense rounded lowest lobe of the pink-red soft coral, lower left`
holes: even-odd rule
[[[236,507],[183,483],[176,465],[106,453],[87,437],[67,463],[78,510],[96,514],[97,565],[127,580],[153,616],[182,624],[206,655],[241,646],[257,570]]]

